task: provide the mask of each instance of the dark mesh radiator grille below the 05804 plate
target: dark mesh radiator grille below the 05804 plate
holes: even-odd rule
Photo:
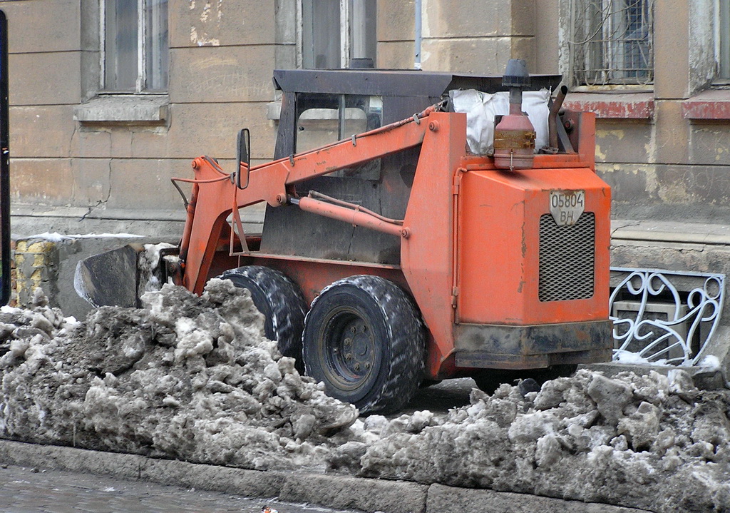
[[[596,216],[584,212],[572,227],[559,227],[549,213],[540,216],[540,301],[593,297]]]

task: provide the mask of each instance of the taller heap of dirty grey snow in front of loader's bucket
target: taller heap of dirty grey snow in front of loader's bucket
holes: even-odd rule
[[[6,438],[246,468],[321,468],[357,418],[266,340],[250,295],[166,285],[145,309],[0,314]],[[16,327],[17,326],[17,327]]]

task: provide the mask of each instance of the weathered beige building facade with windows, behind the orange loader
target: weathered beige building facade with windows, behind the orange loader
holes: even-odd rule
[[[598,117],[617,262],[726,267],[729,0],[6,0],[0,8],[10,27],[18,236],[179,237],[185,211],[169,178],[190,176],[191,159],[207,154],[233,170],[242,127],[254,163],[272,157],[273,69],[372,61],[501,75],[507,59],[525,58],[532,73],[562,73],[566,104]],[[622,252],[621,240],[663,251],[637,257],[644,250]],[[688,259],[686,248],[708,240],[717,257]]]

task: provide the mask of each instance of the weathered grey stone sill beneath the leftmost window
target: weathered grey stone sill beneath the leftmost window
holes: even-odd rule
[[[74,107],[82,124],[164,124],[168,115],[166,94],[114,94],[97,96]]]

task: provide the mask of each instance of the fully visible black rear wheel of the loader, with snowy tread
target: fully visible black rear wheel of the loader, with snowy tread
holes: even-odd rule
[[[361,414],[398,411],[423,379],[420,315],[396,284],[350,276],[323,289],[304,326],[304,367]]]

